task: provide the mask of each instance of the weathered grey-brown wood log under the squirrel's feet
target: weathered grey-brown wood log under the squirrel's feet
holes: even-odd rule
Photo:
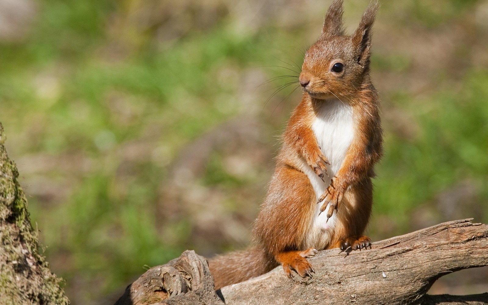
[[[438,224],[376,242],[363,251],[321,251],[309,261],[316,272],[311,279],[295,276],[292,281],[285,276],[282,267],[277,267],[260,277],[226,286],[219,294],[229,305],[488,304],[488,293],[426,294],[445,274],[488,265],[488,225],[473,224],[471,219]],[[189,265],[192,267],[187,267]],[[175,275],[174,269],[179,270],[180,276]],[[124,301],[137,299],[140,289],[150,301]],[[149,295],[156,295],[153,291],[165,293],[163,297],[160,294],[159,299],[149,299]],[[127,287],[117,304],[222,304],[212,291],[213,279],[206,261],[194,252],[185,251],[179,260],[148,270]]]

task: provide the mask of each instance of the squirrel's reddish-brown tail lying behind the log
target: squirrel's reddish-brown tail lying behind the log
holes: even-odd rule
[[[208,261],[215,281],[215,290],[260,276],[278,263],[262,247],[253,246],[245,250],[217,255]]]

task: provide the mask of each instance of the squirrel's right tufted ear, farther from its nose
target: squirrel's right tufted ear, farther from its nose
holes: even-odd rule
[[[373,27],[376,11],[380,3],[372,0],[361,18],[358,29],[352,35],[352,44],[356,50],[356,61],[365,66],[369,61],[369,48],[371,47],[371,29]]]

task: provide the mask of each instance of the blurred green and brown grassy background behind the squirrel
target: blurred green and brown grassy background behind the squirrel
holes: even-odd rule
[[[0,0],[0,122],[73,304],[110,304],[185,249],[248,243],[330,2]],[[368,234],[487,223],[488,1],[382,2]],[[367,3],[346,0],[350,32]],[[487,283],[478,268],[431,292]]]

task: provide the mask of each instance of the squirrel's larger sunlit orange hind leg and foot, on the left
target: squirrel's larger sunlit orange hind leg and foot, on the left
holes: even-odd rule
[[[305,249],[316,204],[308,177],[287,165],[279,165],[254,227],[254,239],[283,265],[288,276],[295,270],[301,277],[313,269],[306,258],[317,250]]]

